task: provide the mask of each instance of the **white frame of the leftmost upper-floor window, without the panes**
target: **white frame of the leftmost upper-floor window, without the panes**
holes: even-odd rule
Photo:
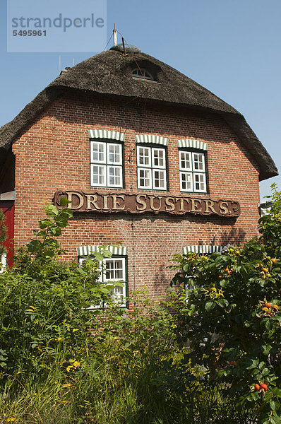
[[[101,148],[100,151],[103,155],[102,159],[94,158],[94,146]],[[119,160],[114,160],[110,162],[109,152],[110,147],[119,147]],[[91,187],[124,187],[124,177],[123,177],[123,145],[122,143],[116,143],[116,141],[98,141],[96,139],[90,140],[90,185]],[[98,173],[94,174],[94,168],[98,167]],[[114,170],[114,180],[116,181],[119,178],[119,182],[109,183],[111,178],[110,171]],[[102,171],[102,172],[100,172]],[[117,175],[119,172],[119,175]],[[94,177],[98,175],[100,181],[94,182]],[[102,177],[102,178],[100,178]]]

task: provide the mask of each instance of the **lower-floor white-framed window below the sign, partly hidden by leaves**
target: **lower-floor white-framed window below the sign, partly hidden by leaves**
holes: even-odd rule
[[[88,256],[89,257],[89,256]],[[79,263],[87,259],[86,257],[79,257]],[[90,259],[95,259],[90,257]],[[127,297],[127,273],[126,273],[126,256],[112,256],[110,258],[104,258],[100,261],[100,277],[101,284],[116,284],[113,288],[112,300],[119,307],[126,307]],[[102,307],[107,307],[106,303],[100,302],[99,305],[92,305],[88,309],[95,310]]]

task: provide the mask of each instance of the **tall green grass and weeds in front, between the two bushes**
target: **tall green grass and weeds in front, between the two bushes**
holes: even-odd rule
[[[247,423],[227,390],[185,363],[166,312],[106,314],[76,363],[68,346],[47,372],[1,375],[1,424]]]

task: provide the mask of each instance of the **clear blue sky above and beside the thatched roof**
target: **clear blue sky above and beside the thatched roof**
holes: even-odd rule
[[[79,1],[81,16],[91,1]],[[107,0],[107,40],[116,23],[126,42],[239,110],[281,171],[280,16],[280,0]],[[2,0],[0,126],[58,76],[59,57],[64,68],[96,53],[7,53]],[[261,199],[273,182],[281,189],[280,176],[261,182]]]

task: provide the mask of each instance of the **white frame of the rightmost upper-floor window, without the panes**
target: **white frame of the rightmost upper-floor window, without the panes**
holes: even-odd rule
[[[189,155],[189,166],[182,165],[181,154]],[[196,161],[196,156],[199,155],[202,160]],[[196,163],[201,163],[201,169],[196,169]],[[189,177],[190,188],[184,187],[184,177]],[[199,179],[199,181],[198,181]],[[202,151],[189,151],[179,149],[179,182],[181,192],[189,193],[207,193],[205,153]],[[198,187],[199,184],[199,187]]]

